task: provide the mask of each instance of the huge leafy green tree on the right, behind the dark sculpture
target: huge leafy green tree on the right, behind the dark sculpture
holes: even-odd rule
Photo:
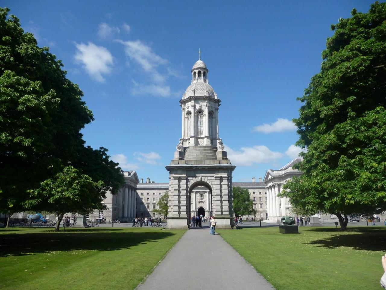
[[[332,25],[322,68],[294,119],[307,148],[283,191],[291,204],[339,218],[386,208],[386,3]]]

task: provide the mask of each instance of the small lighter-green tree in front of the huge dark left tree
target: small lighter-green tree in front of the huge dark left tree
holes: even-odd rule
[[[106,209],[101,203],[103,182],[93,182],[90,176],[81,174],[78,169],[67,166],[56,176],[41,183],[40,188],[29,190],[27,206],[39,210],[45,208],[58,217],[55,230],[59,230],[66,212],[89,213],[98,208]]]

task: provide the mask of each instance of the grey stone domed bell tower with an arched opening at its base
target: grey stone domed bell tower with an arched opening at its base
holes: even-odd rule
[[[191,84],[179,101],[182,136],[169,171],[169,228],[190,224],[191,193],[196,187],[210,193],[210,212],[218,228],[233,227],[232,171],[218,133],[220,99],[208,83],[208,68],[201,58],[191,69]],[[192,209],[196,210],[196,209]]]

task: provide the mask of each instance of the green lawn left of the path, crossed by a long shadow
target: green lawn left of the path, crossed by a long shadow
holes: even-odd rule
[[[0,229],[0,289],[134,289],[185,230]]]

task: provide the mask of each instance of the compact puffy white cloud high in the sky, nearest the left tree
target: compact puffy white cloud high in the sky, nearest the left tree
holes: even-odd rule
[[[75,43],[75,46],[78,49],[75,60],[83,65],[92,78],[98,82],[104,82],[105,78],[102,75],[107,75],[112,71],[113,56],[110,51],[91,42],[88,44]]]

